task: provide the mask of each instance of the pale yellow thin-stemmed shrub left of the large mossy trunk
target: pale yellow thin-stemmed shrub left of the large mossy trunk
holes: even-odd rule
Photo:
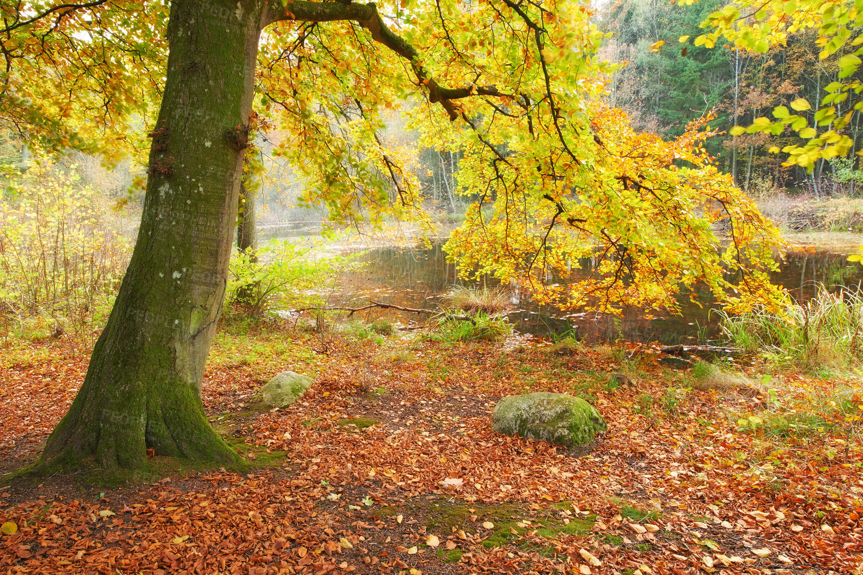
[[[110,309],[132,244],[108,198],[73,171],[31,167],[0,198],[0,314],[86,331]]]

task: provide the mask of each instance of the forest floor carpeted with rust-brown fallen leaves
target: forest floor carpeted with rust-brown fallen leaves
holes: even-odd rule
[[[5,477],[38,457],[88,355],[63,337],[3,349]],[[849,397],[849,382],[785,373],[772,378],[778,394],[699,391],[687,370],[659,358],[632,345],[561,355],[518,340],[448,346],[411,335],[223,328],[205,409],[249,469],[155,456],[119,479],[82,471],[7,480],[0,566],[111,575],[860,573],[855,429],[781,434],[759,425],[771,412],[787,416],[795,398]],[[315,384],[299,403],[261,409],[253,394],[284,370]],[[617,372],[633,385],[618,385]],[[587,399],[608,433],[576,452],[494,433],[494,403],[532,391]]]

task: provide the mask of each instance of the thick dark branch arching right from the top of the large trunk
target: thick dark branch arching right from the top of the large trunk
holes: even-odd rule
[[[429,101],[431,103],[439,102],[447,114],[450,115],[450,120],[455,120],[460,116],[459,106],[453,100],[475,94],[480,96],[504,96],[493,85],[446,88],[438,84],[434,78],[431,78],[428,71],[419,64],[419,53],[416,48],[408,44],[399,34],[395,34],[387,28],[387,25],[383,22],[381,15],[377,11],[375,3],[343,4],[338,2],[324,3],[296,0],[295,2],[288,2],[284,11],[278,8],[271,8],[263,18],[263,26],[267,27],[269,24],[281,20],[292,20],[294,22],[337,22],[351,20],[357,22],[362,28],[369,30],[375,41],[380,42],[394,53],[411,62],[413,73],[416,74],[419,84],[424,85],[429,91]]]

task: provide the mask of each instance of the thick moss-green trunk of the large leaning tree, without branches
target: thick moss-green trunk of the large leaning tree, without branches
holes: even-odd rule
[[[160,455],[230,461],[201,382],[236,226],[263,0],[175,0],[167,82],[129,269],[42,461],[106,468]]]

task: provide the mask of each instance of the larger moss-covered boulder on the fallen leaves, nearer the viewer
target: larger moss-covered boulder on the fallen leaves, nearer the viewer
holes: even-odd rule
[[[504,397],[491,416],[494,431],[575,447],[593,441],[608,426],[594,406],[562,393]]]

